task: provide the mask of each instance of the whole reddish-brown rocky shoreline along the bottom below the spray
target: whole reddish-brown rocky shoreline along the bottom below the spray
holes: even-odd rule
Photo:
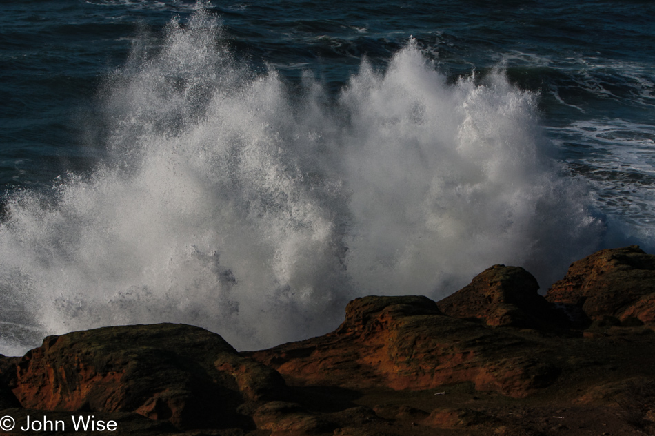
[[[358,298],[332,333],[242,353],[183,324],[50,336],[0,357],[0,434],[654,434],[655,256],[598,251],[537,290],[495,265],[439,302]],[[89,416],[102,430],[74,429]]]

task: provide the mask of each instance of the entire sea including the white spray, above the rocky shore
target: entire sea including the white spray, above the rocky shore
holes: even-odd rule
[[[0,12],[0,353],[163,321],[257,349],[655,249],[652,2]]]

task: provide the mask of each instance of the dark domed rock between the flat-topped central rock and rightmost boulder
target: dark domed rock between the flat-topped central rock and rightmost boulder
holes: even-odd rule
[[[565,326],[565,315],[539,295],[538,289],[536,279],[525,269],[494,265],[437,306],[446,315],[478,319],[489,326]]]

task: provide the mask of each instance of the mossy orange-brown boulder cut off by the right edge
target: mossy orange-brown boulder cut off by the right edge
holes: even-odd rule
[[[578,320],[583,325],[607,316],[652,323],[655,256],[636,245],[598,251],[571,264],[566,276],[548,290],[546,300],[583,315]]]

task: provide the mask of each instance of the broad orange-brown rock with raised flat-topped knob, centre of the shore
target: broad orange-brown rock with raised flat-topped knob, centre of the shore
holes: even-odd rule
[[[445,316],[432,300],[416,296],[357,298],[334,333],[243,354],[301,386],[430,389],[472,382],[524,397],[558,374],[538,358],[536,344]]]

